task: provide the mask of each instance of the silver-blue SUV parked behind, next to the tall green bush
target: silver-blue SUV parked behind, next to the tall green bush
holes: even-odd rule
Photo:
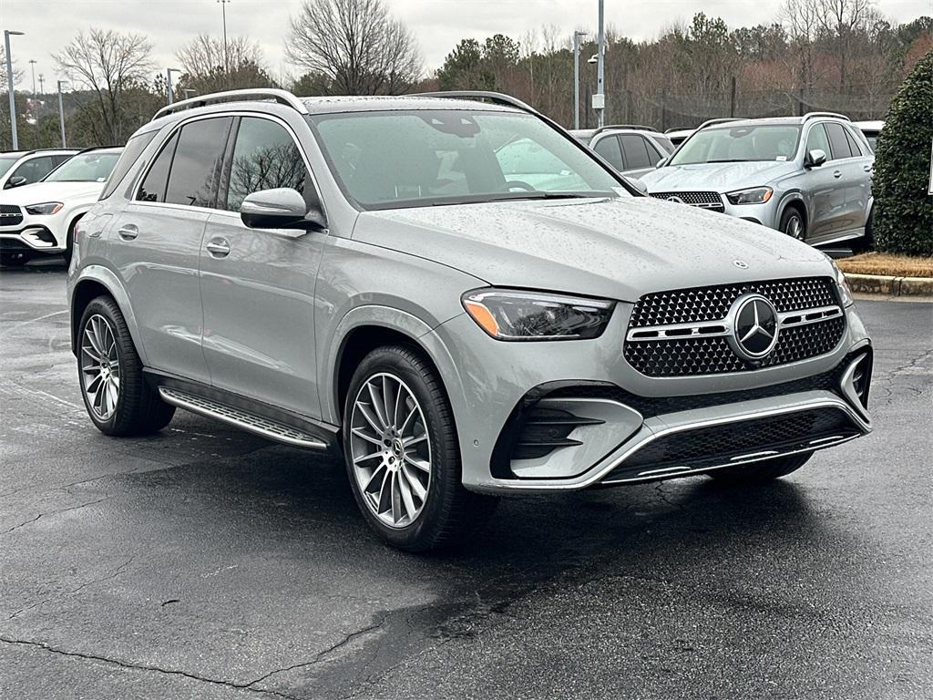
[[[705,126],[642,176],[652,197],[763,224],[812,245],[871,244],[872,152],[839,115]]]

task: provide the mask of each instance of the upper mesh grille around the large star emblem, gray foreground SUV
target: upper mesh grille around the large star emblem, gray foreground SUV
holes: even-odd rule
[[[767,297],[779,314],[834,306],[839,302],[833,285],[829,277],[808,277],[648,294],[634,305],[629,328],[723,320],[734,301],[746,292]],[[842,315],[781,329],[772,353],[754,365],[738,357],[724,336],[630,341],[625,343],[623,354],[635,370],[649,377],[722,374],[826,355],[842,340],[844,331]]]

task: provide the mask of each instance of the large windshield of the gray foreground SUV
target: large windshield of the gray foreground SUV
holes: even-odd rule
[[[628,195],[532,115],[432,109],[311,119],[341,188],[367,209]]]

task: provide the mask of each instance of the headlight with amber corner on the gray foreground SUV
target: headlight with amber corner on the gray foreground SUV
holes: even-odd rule
[[[466,313],[500,341],[569,341],[598,338],[614,301],[512,289],[474,289],[462,300]]]

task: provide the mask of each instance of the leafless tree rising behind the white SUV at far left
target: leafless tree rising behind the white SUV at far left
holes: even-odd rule
[[[81,32],[61,53],[53,54],[74,84],[95,93],[93,125],[98,143],[122,144],[138,119],[127,115],[127,96],[138,91],[152,69],[152,45],[143,35],[91,28]]]

